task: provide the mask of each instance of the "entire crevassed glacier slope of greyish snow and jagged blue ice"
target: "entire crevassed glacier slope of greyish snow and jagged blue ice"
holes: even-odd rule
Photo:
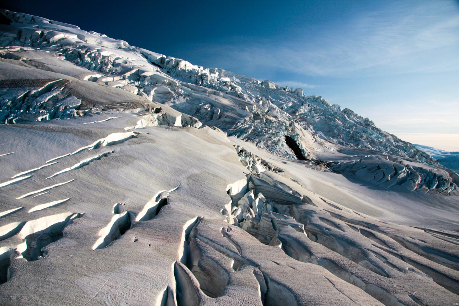
[[[459,176],[318,96],[0,14],[1,305],[451,305]]]

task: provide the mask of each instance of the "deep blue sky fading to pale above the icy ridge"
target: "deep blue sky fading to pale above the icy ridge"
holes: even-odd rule
[[[21,1],[204,67],[302,87],[386,131],[459,150],[459,1]],[[423,138],[422,134],[430,136]],[[451,134],[451,138],[448,135]]]

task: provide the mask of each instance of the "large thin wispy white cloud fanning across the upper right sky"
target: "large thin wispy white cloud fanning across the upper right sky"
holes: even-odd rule
[[[311,33],[314,31],[314,33]],[[234,38],[200,46],[231,67],[282,69],[310,76],[441,72],[459,68],[459,14],[453,2],[395,2],[340,27],[297,29],[280,41]]]

